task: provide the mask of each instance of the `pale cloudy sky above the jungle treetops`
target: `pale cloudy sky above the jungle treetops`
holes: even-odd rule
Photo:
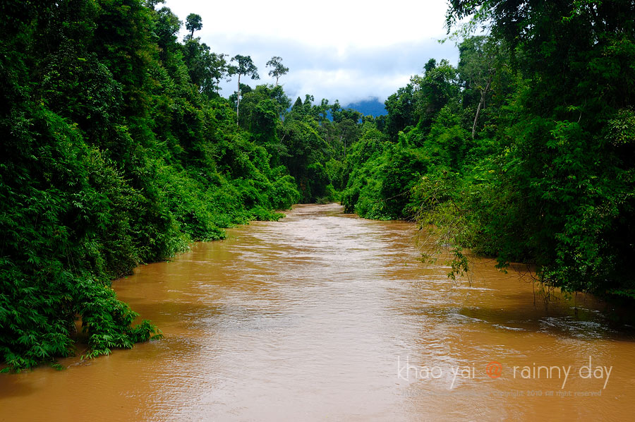
[[[164,6],[183,22],[198,13],[203,28],[195,36],[213,52],[250,55],[260,80],[249,85],[274,83],[265,63],[282,56],[289,73],[279,82],[292,99],[383,102],[431,57],[458,59],[453,42],[438,42],[446,37],[446,0],[167,0]],[[235,84],[234,78],[222,85],[221,94],[234,92]]]

